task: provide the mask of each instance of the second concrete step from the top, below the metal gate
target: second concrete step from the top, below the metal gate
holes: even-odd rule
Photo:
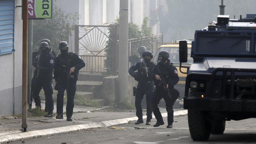
[[[101,96],[103,82],[99,81],[77,81],[76,90],[79,92],[94,92],[96,98]]]

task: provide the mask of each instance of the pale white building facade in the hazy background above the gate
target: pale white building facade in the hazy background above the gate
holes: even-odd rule
[[[61,0],[55,2],[64,12],[78,14],[77,25],[107,25],[119,16],[120,0]],[[145,17],[149,18],[149,26],[153,34],[159,32],[159,0],[129,0],[129,22],[141,26]],[[71,50],[74,51],[74,31],[69,38]]]

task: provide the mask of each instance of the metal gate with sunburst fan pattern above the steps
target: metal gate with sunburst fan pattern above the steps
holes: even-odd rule
[[[81,72],[106,72],[104,50],[108,41],[111,26],[75,26],[75,52],[84,60],[86,66]]]

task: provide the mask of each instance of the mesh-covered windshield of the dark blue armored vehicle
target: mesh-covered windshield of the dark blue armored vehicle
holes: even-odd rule
[[[250,54],[252,33],[246,32],[198,32],[197,53]]]

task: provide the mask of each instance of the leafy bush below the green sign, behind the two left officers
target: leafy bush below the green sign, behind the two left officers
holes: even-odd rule
[[[52,18],[44,20],[33,20],[33,51],[39,49],[39,44],[43,38],[51,41],[54,51],[58,51],[58,44],[67,41],[70,29],[74,27],[78,14],[67,14],[57,6],[54,6]]]

